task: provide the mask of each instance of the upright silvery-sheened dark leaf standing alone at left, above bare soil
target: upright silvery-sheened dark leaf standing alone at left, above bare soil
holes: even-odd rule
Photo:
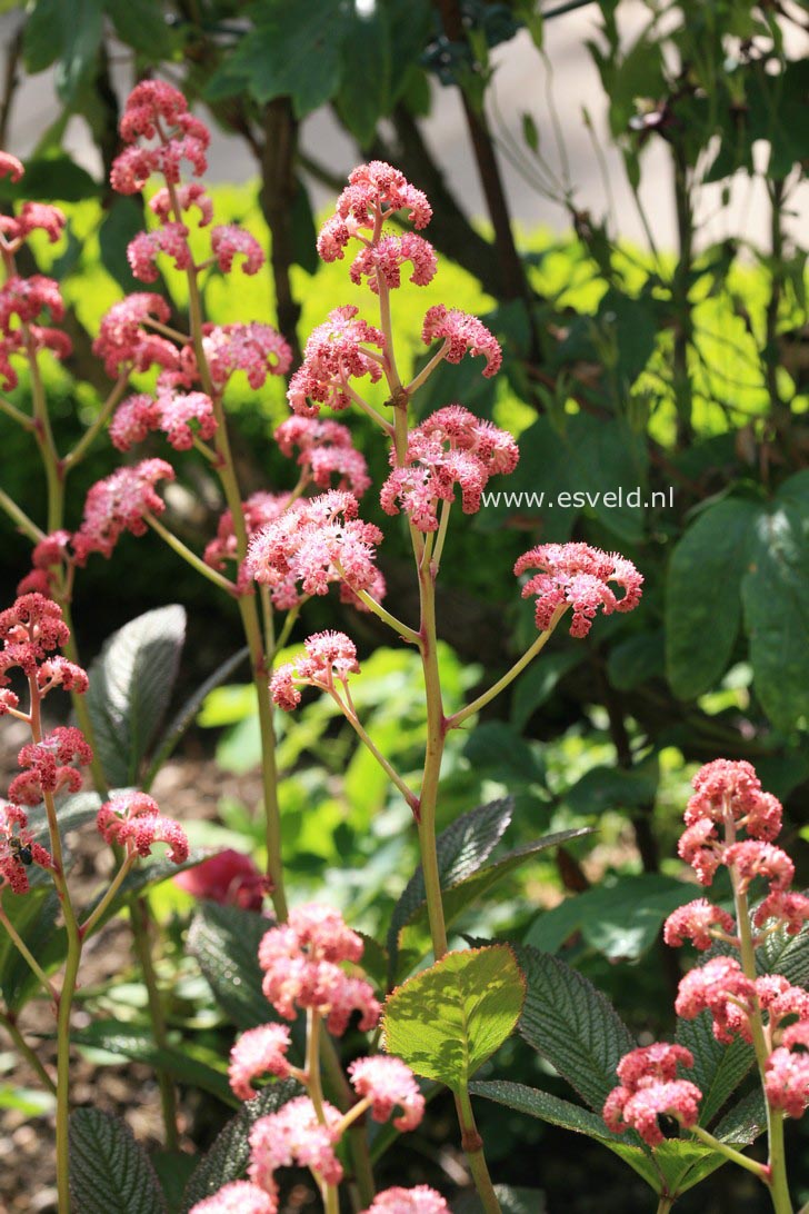
[[[184,609],[159,607],[114,632],[90,668],[86,703],[112,787],[137,783],[169,707],[184,639]]]

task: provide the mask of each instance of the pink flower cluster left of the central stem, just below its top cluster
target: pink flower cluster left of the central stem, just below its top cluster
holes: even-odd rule
[[[349,380],[368,375],[376,384],[382,378],[384,337],[358,312],[351,304],[337,307],[309,334],[303,363],[286,393],[294,413],[313,418],[319,404],[346,409],[352,399]],[[307,397],[314,403],[309,404]]]

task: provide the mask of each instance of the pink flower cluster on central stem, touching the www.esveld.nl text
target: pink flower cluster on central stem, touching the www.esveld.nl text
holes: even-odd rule
[[[474,514],[489,477],[513,472],[518,459],[508,431],[482,421],[460,404],[446,405],[410,431],[401,465],[391,452],[393,471],[382,486],[382,509],[389,515],[404,510],[414,527],[437,531],[438,503],[454,501],[456,484],[465,514]]]

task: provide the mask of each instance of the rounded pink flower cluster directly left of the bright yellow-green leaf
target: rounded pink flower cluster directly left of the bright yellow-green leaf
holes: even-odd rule
[[[298,1008],[313,1008],[329,1032],[341,1036],[358,1011],[359,1027],[374,1028],[381,1009],[371,986],[342,969],[343,961],[357,964],[361,955],[361,938],[337,910],[317,903],[296,907],[289,923],[270,927],[261,941],[262,989],[285,1020],[294,1020]]]

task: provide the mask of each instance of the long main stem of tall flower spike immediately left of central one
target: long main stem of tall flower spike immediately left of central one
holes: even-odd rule
[[[175,219],[182,222],[182,210],[177,199],[176,187],[169,183]],[[213,415],[218,422],[213,446],[220,456],[217,472],[222,483],[226,501],[230,509],[233,518],[233,531],[237,540],[237,561],[240,565],[247,551],[247,529],[241,506],[241,490],[235,473],[235,464],[228,438],[227,418],[222,404],[222,396],[216,391],[211,380],[205,350],[203,347],[203,302],[196,282],[194,267],[187,271],[188,278],[188,312],[190,317],[190,331],[194,342],[194,353],[199,368],[203,390],[210,396],[213,405]],[[200,562],[203,563],[203,562]],[[270,897],[273,907],[280,923],[287,917],[286,894],[284,891],[284,868],[281,864],[281,817],[278,804],[278,767],[275,762],[275,724],[273,720],[273,703],[269,698],[269,682],[267,658],[262,640],[261,618],[255,595],[239,595],[239,613],[241,626],[244,628],[247,648],[250,649],[250,664],[252,668],[256,694],[258,698],[258,724],[261,728],[261,770],[262,790],[264,800],[264,840],[267,846],[267,875],[272,883]]]

